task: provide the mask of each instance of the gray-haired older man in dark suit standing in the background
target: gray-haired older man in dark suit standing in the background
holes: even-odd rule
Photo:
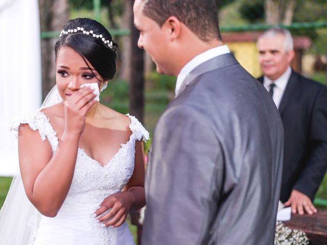
[[[284,29],[271,29],[258,39],[259,78],[281,114],[284,165],[280,200],[293,213],[313,214],[315,193],[327,166],[327,87],[291,69],[293,40]]]

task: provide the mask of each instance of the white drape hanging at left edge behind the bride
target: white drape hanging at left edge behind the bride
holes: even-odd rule
[[[18,170],[14,116],[41,105],[41,46],[37,0],[0,0],[0,176]]]

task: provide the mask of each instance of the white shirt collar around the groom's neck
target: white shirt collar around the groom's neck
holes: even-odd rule
[[[190,60],[183,68],[180,70],[177,76],[175,94],[177,94],[178,90],[180,89],[184,79],[190,74],[190,72],[197,67],[198,65],[202,64],[205,61],[208,61],[212,58],[215,58],[220,55],[224,55],[230,53],[229,48],[227,45],[222,45],[218,47],[211,48],[197,56],[195,56],[192,60]]]

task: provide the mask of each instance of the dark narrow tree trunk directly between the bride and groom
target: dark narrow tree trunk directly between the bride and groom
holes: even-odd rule
[[[134,1],[129,1],[131,9]],[[138,48],[137,41],[139,32],[134,27],[133,17],[130,21],[131,27],[131,72],[129,84],[129,110],[132,115],[143,122],[144,113],[144,52]]]

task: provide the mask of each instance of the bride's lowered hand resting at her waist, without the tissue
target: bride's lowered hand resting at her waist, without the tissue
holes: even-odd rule
[[[104,227],[119,227],[125,222],[132,202],[132,195],[128,191],[112,194],[103,200],[100,208],[97,209],[94,216]],[[110,211],[108,213],[99,217],[99,215],[109,209]]]

